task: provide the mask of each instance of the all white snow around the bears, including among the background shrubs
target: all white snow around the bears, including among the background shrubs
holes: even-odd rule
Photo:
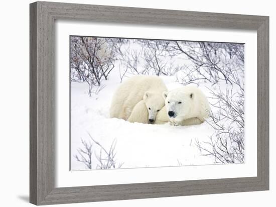
[[[149,43],[152,44],[151,47],[143,46],[143,44],[139,44],[135,40],[128,40],[127,43],[120,45],[121,54],[117,55],[116,59],[112,61],[114,68],[109,73],[108,79],[101,82],[101,87],[94,86],[90,95],[88,92],[89,86],[86,82],[71,82],[71,170],[87,169],[85,164],[79,162],[75,157],[77,155],[81,159],[79,150],[84,150],[82,141],[92,144],[92,169],[100,168],[99,165],[102,163],[100,163],[99,157],[102,157],[102,162],[106,163],[104,150],[109,152],[111,147],[114,149],[115,154],[115,164],[112,165],[114,168],[207,165],[216,163],[212,156],[204,156],[202,153],[205,152],[203,150],[200,151],[196,146],[196,143],[199,142],[204,145],[205,149],[212,151],[210,149],[212,146],[208,143],[210,143],[210,137],[216,132],[207,122],[201,125],[176,127],[171,126],[169,123],[149,125],[109,118],[112,95],[121,83],[120,76],[124,75],[124,72],[126,74],[123,76],[122,81],[133,74],[156,74],[154,70],[149,70],[151,68],[149,64],[154,63],[151,63],[151,61],[147,63],[147,58],[152,58],[147,57],[147,55],[153,54],[151,50],[158,52],[159,64],[166,69],[166,73],[160,74],[168,74],[168,76],[160,77],[164,80],[169,90],[182,86],[179,82],[189,83],[195,77],[199,78],[199,80],[204,79],[201,82],[196,81],[196,83],[199,83],[199,88],[207,96],[209,102],[214,105],[211,106],[211,110],[215,115],[220,115],[216,106],[218,105],[218,100],[210,89],[215,93],[219,93],[220,90],[225,93],[228,89],[233,89],[234,98],[239,96],[239,87],[235,84],[227,85],[227,81],[224,81],[225,77],[220,72],[209,74],[209,72],[202,70],[200,74],[203,73],[205,77],[202,78],[203,76],[198,76],[199,72],[195,70],[198,66],[182,53],[174,51],[168,56],[166,51],[162,52],[159,51],[159,48],[155,48],[155,43],[151,41]],[[182,44],[182,47],[186,48],[197,58],[200,47],[195,45],[191,49],[188,46],[190,46],[189,42]],[[240,49],[243,50],[243,47]],[[210,55],[212,55],[211,62],[215,61],[216,64],[219,64],[219,67],[225,70],[226,76],[231,71],[232,76],[238,76],[239,81],[243,83],[244,68],[237,57],[230,57],[225,51],[216,51],[215,54],[210,53]],[[136,62],[134,61],[135,58],[137,58]],[[204,55],[199,55],[198,58],[203,58],[201,61],[205,61]],[[220,61],[217,62],[218,59]],[[204,67],[208,67],[208,65],[209,62],[207,61]],[[233,97],[229,98],[234,99]],[[237,126],[232,123],[231,119],[226,120],[222,118],[220,121],[223,122],[223,125],[236,129]]]

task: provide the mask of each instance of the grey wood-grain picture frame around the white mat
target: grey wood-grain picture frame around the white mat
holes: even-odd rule
[[[257,176],[55,187],[55,20],[257,31]],[[252,60],[256,61],[256,60]],[[43,204],[269,189],[269,17],[36,2],[30,5],[30,202]]]

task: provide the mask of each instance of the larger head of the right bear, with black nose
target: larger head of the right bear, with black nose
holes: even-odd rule
[[[194,93],[191,91],[171,90],[164,91],[163,98],[168,112],[168,117],[174,119],[176,117],[185,117],[193,105]]]

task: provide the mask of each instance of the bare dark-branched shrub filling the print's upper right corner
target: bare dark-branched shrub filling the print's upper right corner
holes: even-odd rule
[[[163,43],[171,57],[186,60],[182,70],[183,84],[206,81],[216,84],[223,80],[236,83],[237,74],[244,76],[244,45],[237,43],[211,43],[189,41],[167,41]]]

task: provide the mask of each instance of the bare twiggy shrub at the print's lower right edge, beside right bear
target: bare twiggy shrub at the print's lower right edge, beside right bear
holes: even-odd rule
[[[210,89],[211,90],[211,89]],[[215,130],[209,142],[199,142],[196,146],[202,155],[212,156],[215,163],[244,162],[244,90],[233,92],[227,87],[226,92],[211,90],[218,109],[216,114],[210,113],[208,123]]]

